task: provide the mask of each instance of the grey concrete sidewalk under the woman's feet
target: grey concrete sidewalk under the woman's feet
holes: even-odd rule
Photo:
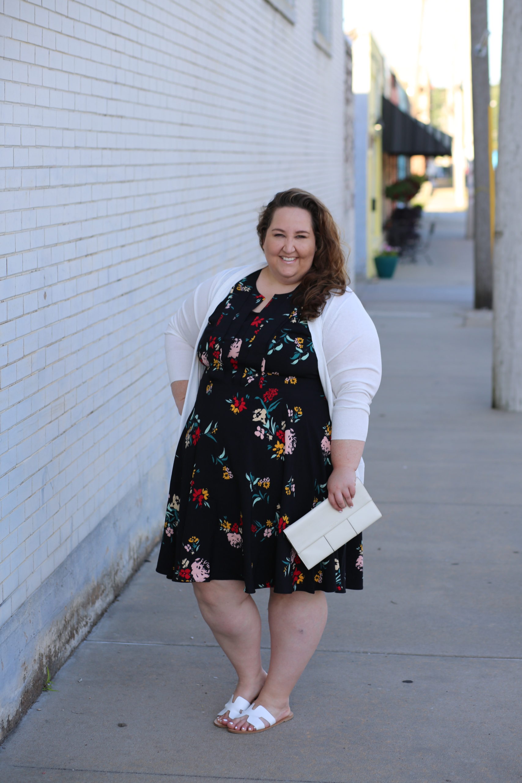
[[[294,720],[212,725],[232,668],[154,553],[0,749],[2,783],[522,780],[522,416],[490,408],[465,216],[425,219],[433,263],[358,287],[383,348],[365,449],[383,520],[365,590],[329,596]]]

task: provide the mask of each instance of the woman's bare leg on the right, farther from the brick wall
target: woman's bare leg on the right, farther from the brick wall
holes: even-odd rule
[[[327,615],[326,595],[320,590],[290,595],[272,591],[268,603],[272,654],[268,677],[256,704],[268,709],[275,720],[290,715],[290,693],[321,640]],[[236,718],[229,726],[254,731],[246,718]]]

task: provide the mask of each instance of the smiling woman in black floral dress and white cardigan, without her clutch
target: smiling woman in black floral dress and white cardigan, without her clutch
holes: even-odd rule
[[[191,582],[238,681],[214,723],[239,734],[290,720],[290,693],[326,624],[326,593],[362,589],[362,537],[310,571],[283,530],[324,500],[351,506],[376,330],[347,288],[339,232],[298,189],[277,193],[257,233],[265,260],[201,283],[169,324],[182,413],[157,571]],[[251,596],[271,591],[261,666]]]

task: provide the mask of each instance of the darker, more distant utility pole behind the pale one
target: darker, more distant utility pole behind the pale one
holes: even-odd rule
[[[471,0],[471,80],[473,91],[475,308],[491,309],[491,211],[489,198],[488,0]]]

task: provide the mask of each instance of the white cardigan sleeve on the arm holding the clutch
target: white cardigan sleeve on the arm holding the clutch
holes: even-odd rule
[[[353,291],[327,312],[322,345],[333,391],[332,439],[365,441],[369,406],[380,384],[379,337]]]

